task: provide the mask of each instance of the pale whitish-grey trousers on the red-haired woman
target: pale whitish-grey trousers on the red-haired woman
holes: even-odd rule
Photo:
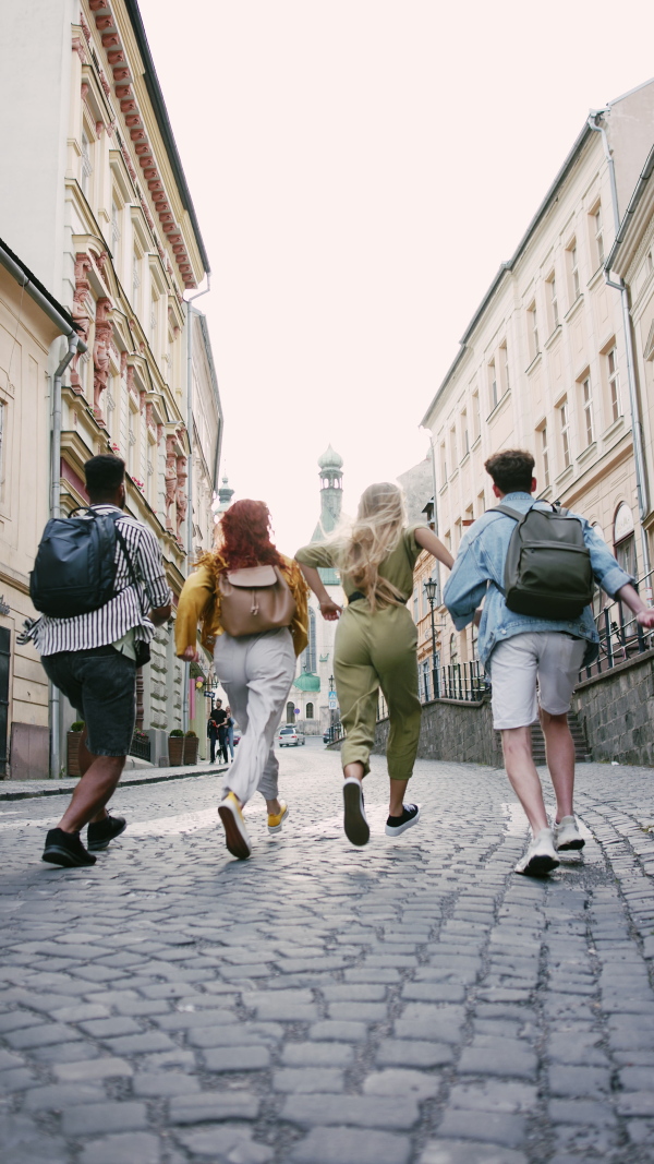
[[[275,800],[279,771],[275,732],[296,674],[291,632],[284,626],[240,639],[221,634],[214,658],[232,715],[242,731],[225,792],[235,793],[242,804],[257,788],[265,800]]]

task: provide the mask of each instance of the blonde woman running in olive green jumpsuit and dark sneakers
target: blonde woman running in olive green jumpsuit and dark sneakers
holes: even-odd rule
[[[346,738],[343,765],[344,830],[353,845],[365,845],[370,829],[363,807],[362,780],[370,771],[379,688],[389,708],[386,748],[391,782],[386,836],[398,837],[417,823],[417,804],[404,794],[413,772],[420,733],[415,624],[406,609],[413,592],[413,567],[421,549],[452,568],[446,547],[419,521],[406,525],[404,497],[397,485],[369,485],[347,533],[324,545],[299,549],[306,581],[322,617],[339,618],[334,676]],[[333,602],[320,580],[320,567],[336,567],[348,605]]]

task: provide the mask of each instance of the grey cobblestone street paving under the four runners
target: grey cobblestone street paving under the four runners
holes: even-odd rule
[[[375,758],[360,851],[339,757],[282,768],[247,864],[215,776],[119,792],[92,870],[40,860],[59,800],[2,804],[6,1164],[654,1162],[654,773],[580,767],[584,857],[534,882],[500,772],[421,761],[392,840]]]

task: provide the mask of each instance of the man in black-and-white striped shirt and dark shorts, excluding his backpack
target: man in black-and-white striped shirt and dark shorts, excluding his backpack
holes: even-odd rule
[[[123,513],[125,461],[93,456],[86,462],[92,509],[118,511],[127,554],[116,535],[114,596],[99,610],[73,618],[43,615],[29,630],[45,674],[84,719],[79,746],[81,779],[56,829],[45,838],[43,860],[65,867],[94,865],[93,851],[106,849],[126,828],[106,804],[120,780],[135,721],[136,660],[155,626],[168,622],[172,595],[154,533]],[[88,825],[87,849],[79,832]]]

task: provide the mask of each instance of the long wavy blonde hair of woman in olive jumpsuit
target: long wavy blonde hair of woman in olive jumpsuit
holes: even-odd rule
[[[379,566],[398,545],[405,525],[404,494],[384,481],[368,485],[355,520],[329,539],[341,574],[365,595],[371,610],[406,601],[392,582],[379,576]]]

